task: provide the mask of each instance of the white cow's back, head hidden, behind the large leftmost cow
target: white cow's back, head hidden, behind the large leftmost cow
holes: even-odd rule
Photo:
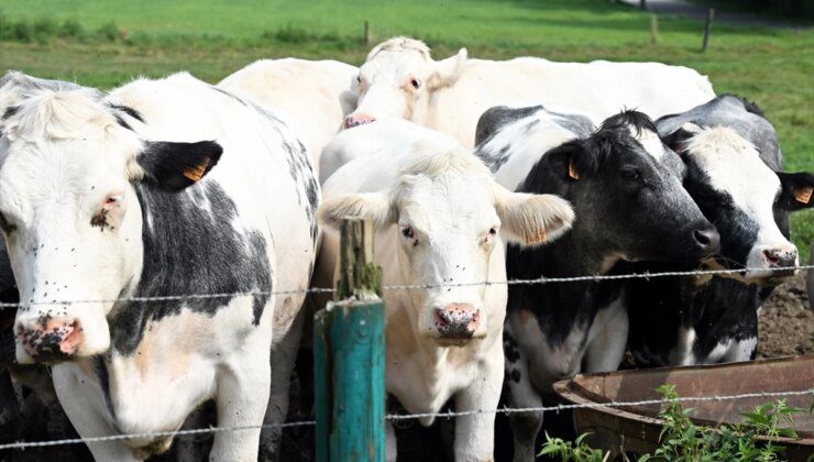
[[[273,109],[299,135],[318,166],[322,147],[354,109],[351,86],[356,74],[355,66],[331,59],[261,59],[217,87]]]

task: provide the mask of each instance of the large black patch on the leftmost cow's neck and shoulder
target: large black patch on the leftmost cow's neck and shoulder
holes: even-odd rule
[[[143,213],[144,267],[133,296],[260,292],[251,296],[253,308],[246,312],[256,326],[272,289],[267,243],[256,230],[235,230],[238,210],[220,185],[207,180],[182,194],[151,184],[135,189]],[[184,306],[211,317],[235,297],[124,302],[111,322],[112,345],[132,354],[148,322],[178,315]]]

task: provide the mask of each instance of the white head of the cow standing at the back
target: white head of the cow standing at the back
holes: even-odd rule
[[[432,91],[455,82],[465,62],[465,48],[436,62],[427,45],[417,40],[396,37],[377,45],[359,70],[356,110],[345,118],[344,127],[383,117],[413,120]]]

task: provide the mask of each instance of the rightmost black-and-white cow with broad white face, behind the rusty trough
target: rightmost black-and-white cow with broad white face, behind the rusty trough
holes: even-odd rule
[[[757,106],[733,95],[657,125],[686,164],[684,187],[721,233],[721,252],[705,266],[748,270],[634,282],[630,350],[644,367],[754,359],[758,310],[799,261],[788,215],[814,204],[814,175],[782,173],[774,128]],[[638,264],[631,271],[694,268]]]

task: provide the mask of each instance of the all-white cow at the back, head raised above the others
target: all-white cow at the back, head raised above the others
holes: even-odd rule
[[[426,44],[408,37],[376,45],[353,89],[356,109],[345,118],[345,128],[399,117],[448,133],[464,146],[473,145],[480,116],[498,105],[568,108],[600,122],[625,107],[659,117],[715,97],[705,76],[681,66],[469,59],[466,48],[433,61]]]

